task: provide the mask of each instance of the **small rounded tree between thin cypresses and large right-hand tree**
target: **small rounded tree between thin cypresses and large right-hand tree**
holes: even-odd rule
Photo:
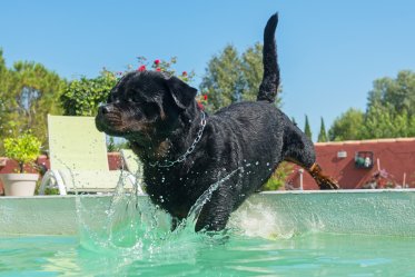
[[[357,109],[348,109],[337,117],[328,130],[330,141],[363,139],[365,113]]]

